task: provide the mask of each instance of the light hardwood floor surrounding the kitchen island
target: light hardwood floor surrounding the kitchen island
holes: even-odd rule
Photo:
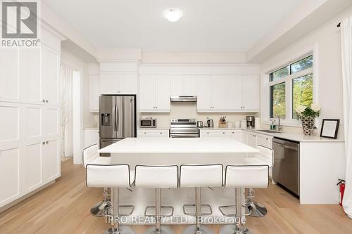
[[[0,233],[103,233],[109,225],[89,214],[92,204],[101,200],[101,189],[87,188],[81,165],[62,162],[61,178],[52,186],[0,214]],[[253,233],[352,233],[352,220],[339,205],[301,205],[296,197],[278,186],[256,190],[256,200],[265,204],[268,214],[249,217]],[[182,233],[185,226],[170,226]],[[146,226],[133,226],[143,233]],[[218,233],[220,226],[210,226]]]

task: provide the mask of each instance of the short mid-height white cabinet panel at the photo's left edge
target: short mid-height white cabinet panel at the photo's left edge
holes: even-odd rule
[[[0,116],[0,142],[18,139],[20,137],[20,108],[0,103]]]

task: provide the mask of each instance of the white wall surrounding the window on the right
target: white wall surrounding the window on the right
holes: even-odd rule
[[[337,24],[351,14],[352,8],[348,8],[337,15],[337,17],[310,32],[310,34],[295,41],[294,44],[291,44],[283,51],[270,57],[260,66],[260,72],[265,74],[269,70],[284,65],[284,63],[292,59],[292,56],[298,55],[300,51],[315,47],[315,102],[322,106],[320,119],[334,118],[343,120],[344,117],[341,78],[341,34]],[[262,93],[263,88],[265,87],[262,86]],[[264,98],[262,97],[262,100]],[[265,103],[261,103],[261,108],[263,112],[263,108],[268,107]],[[339,128],[339,137],[343,136],[342,125],[343,121]],[[284,131],[301,131],[301,128],[284,127]],[[316,134],[319,134],[318,131],[316,131]]]

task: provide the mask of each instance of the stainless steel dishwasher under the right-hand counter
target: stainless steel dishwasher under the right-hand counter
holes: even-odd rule
[[[272,150],[274,150],[272,178],[299,196],[299,143],[273,138]]]

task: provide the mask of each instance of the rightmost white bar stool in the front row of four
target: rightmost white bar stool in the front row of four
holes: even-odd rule
[[[244,214],[242,212],[242,194],[245,188],[268,188],[269,166],[268,165],[228,165],[225,170],[225,188],[235,189],[235,212],[225,214],[223,209],[229,206],[220,206],[220,212],[225,216],[234,216],[234,225],[226,225],[220,229],[221,234],[251,232],[244,226]]]

